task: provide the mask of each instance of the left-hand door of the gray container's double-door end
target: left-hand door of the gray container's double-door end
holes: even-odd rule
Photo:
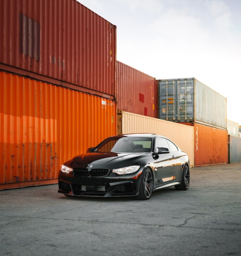
[[[175,80],[159,81],[159,118],[175,121]]]

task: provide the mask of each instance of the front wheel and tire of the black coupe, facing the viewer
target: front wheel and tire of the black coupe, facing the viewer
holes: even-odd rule
[[[151,197],[153,188],[153,176],[150,168],[145,168],[140,178],[139,195],[136,196],[138,200],[148,200]]]

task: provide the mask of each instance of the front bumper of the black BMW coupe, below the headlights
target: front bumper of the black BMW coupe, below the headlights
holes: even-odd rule
[[[111,173],[106,177],[78,177],[72,173],[58,174],[58,193],[67,196],[137,196],[139,194],[142,171],[117,176]]]

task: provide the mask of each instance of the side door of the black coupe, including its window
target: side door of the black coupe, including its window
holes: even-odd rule
[[[165,138],[158,138],[155,142],[155,147],[158,147],[158,159],[155,161],[155,185],[164,185],[171,183],[176,179],[177,167],[176,159],[169,144]],[[161,152],[169,153],[161,153]]]

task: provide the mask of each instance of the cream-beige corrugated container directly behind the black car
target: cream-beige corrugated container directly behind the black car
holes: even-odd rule
[[[172,123],[157,118],[144,117],[129,112],[119,111],[117,133],[155,133],[166,136],[187,153],[190,166],[194,164],[193,127]]]

